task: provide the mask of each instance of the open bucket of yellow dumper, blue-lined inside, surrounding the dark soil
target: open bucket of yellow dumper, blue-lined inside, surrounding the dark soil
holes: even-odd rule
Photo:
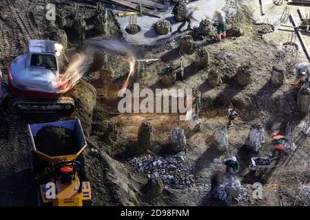
[[[53,126],[53,127],[61,127],[64,129],[68,129],[74,133],[74,137],[76,137],[76,142],[74,142],[73,148],[70,149],[63,147],[63,150],[60,149],[60,151],[63,151],[63,153],[59,153],[57,155],[50,155],[50,153],[47,153],[48,151],[43,150],[43,146],[36,146],[35,137],[37,136],[38,132],[43,129],[45,126]],[[87,146],[87,143],[85,142],[85,135],[83,133],[83,129],[81,126],[81,122],[79,119],[76,120],[68,120],[68,121],[60,121],[60,122],[49,122],[49,123],[41,123],[41,124],[28,124],[28,130],[30,134],[30,139],[32,142],[32,148],[34,153],[36,153],[41,159],[43,159],[45,162],[52,163],[52,162],[59,162],[63,160],[74,160],[85,149]],[[46,142],[50,142],[51,140],[46,140]],[[56,145],[57,143],[52,144],[46,144],[48,146],[53,147],[59,147],[59,145]],[[75,146],[76,145],[76,146]],[[51,149],[48,149],[49,151]],[[59,149],[58,149],[59,151]],[[68,153],[68,151],[70,151]],[[65,153],[64,153],[65,152]]]

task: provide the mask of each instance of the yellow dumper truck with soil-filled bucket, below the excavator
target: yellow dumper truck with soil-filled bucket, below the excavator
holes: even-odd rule
[[[43,204],[83,206],[83,201],[91,200],[90,182],[83,181],[83,163],[78,159],[87,146],[80,120],[28,124],[28,131],[33,170],[44,170],[43,166],[49,170],[45,182],[39,183]]]

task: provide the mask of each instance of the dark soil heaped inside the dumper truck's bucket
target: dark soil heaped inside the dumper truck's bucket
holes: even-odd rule
[[[63,126],[43,126],[34,137],[37,150],[50,155],[71,155],[77,152],[76,131]]]

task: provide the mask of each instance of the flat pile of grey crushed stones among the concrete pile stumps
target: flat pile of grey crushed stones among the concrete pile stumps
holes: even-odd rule
[[[149,178],[159,177],[165,186],[176,189],[195,186],[194,162],[183,151],[167,157],[134,157],[128,163]]]

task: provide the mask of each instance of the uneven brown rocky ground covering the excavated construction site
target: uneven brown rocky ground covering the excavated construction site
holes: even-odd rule
[[[79,39],[71,28],[50,27],[47,21],[34,27],[24,28],[17,19],[8,16],[19,13],[24,7],[21,1],[5,2],[10,7],[1,8],[1,42],[10,45],[10,53],[0,46],[0,63],[3,74],[8,74],[8,66],[15,57],[19,45],[33,37],[43,37],[52,33],[67,34],[68,46],[64,67],[76,52],[83,52]],[[37,15],[43,1],[23,2],[32,7]],[[30,8],[31,8],[30,7]],[[81,5],[87,21],[86,39],[118,39],[118,25],[110,12],[107,14],[108,32],[96,34],[94,30],[95,9]],[[57,5],[62,17],[71,22],[70,4]],[[102,63],[98,68],[88,59],[90,68],[83,79],[67,95],[76,103],[76,111],[64,115],[20,115],[12,111],[8,97],[0,107],[0,205],[35,205],[37,185],[30,170],[29,143],[26,124],[51,122],[79,118],[87,136],[87,149],[83,153],[85,179],[92,186],[90,206],[304,206],[309,205],[309,138],[302,133],[304,118],[298,112],[296,103],[298,91],[290,83],[293,67],[285,52],[267,43],[264,35],[272,32],[272,27],[256,23],[252,19],[253,10],[241,1],[227,1],[223,9],[229,15],[227,28],[229,37],[220,43],[214,41],[214,30],[204,39],[193,41],[193,53],[183,54],[184,78],[177,77],[169,88],[193,88],[200,91],[200,128],[190,131],[187,123],[180,121],[177,114],[119,113],[116,109],[118,89],[123,86],[130,69],[128,54],[136,58],[159,58],[155,63],[143,63],[130,78],[138,80],[142,88],[164,88],[161,69],[169,65],[180,74],[179,39],[157,47],[133,48],[126,53],[99,54]],[[238,17],[238,19],[236,19]],[[14,18],[14,17],[13,17]],[[44,19],[43,19],[44,20]],[[23,21],[24,23],[26,21]],[[9,24],[17,29],[10,31]],[[33,26],[32,26],[33,27]],[[50,30],[52,28],[52,31]],[[63,28],[63,29],[62,29]],[[42,36],[36,36],[38,30]],[[27,34],[23,34],[23,32]],[[29,33],[28,33],[29,32]],[[62,32],[63,33],[63,32]],[[9,36],[16,41],[10,41]],[[60,34],[61,35],[61,34]],[[55,37],[55,36],[54,36]],[[56,34],[59,37],[59,34]],[[19,39],[19,41],[17,41]],[[61,35],[61,39],[65,39]],[[112,42],[112,41],[107,41]],[[207,67],[195,65],[194,49],[200,47],[209,53]],[[103,59],[101,59],[103,58]],[[68,62],[68,63],[67,63]],[[285,69],[283,85],[270,83],[273,66]],[[102,67],[101,67],[102,66]],[[138,72],[138,73],[137,73]],[[244,76],[247,72],[249,77]],[[244,85],[242,85],[244,84]],[[130,84],[129,87],[132,85]],[[233,127],[227,129],[226,151],[218,151],[213,135],[227,123],[227,107],[234,106],[240,111],[240,118]],[[142,122],[149,122],[142,126]],[[267,173],[251,171],[251,157],[271,153],[271,133],[280,129],[285,133],[287,124],[296,124],[294,141],[297,150],[286,156],[279,166]],[[260,124],[265,131],[265,140],[260,143],[260,151],[253,152],[246,140],[252,124]],[[172,129],[183,129],[174,142]],[[144,130],[143,130],[144,129]],[[141,131],[143,130],[143,131]],[[152,137],[152,141],[141,138],[138,133]],[[6,133],[6,135],[3,135]],[[216,190],[214,174],[223,173],[224,159],[236,156],[240,161],[238,181],[223,179],[218,174]],[[6,184],[10,181],[11,184]],[[217,181],[217,180],[216,180]],[[259,182],[264,186],[263,198],[254,199],[252,185]],[[20,186],[22,185],[22,186]],[[19,187],[17,187],[19,186]],[[240,193],[234,197],[234,188]],[[231,188],[233,190],[231,190]],[[214,199],[213,192],[217,192]],[[231,195],[228,195],[230,192]]]

